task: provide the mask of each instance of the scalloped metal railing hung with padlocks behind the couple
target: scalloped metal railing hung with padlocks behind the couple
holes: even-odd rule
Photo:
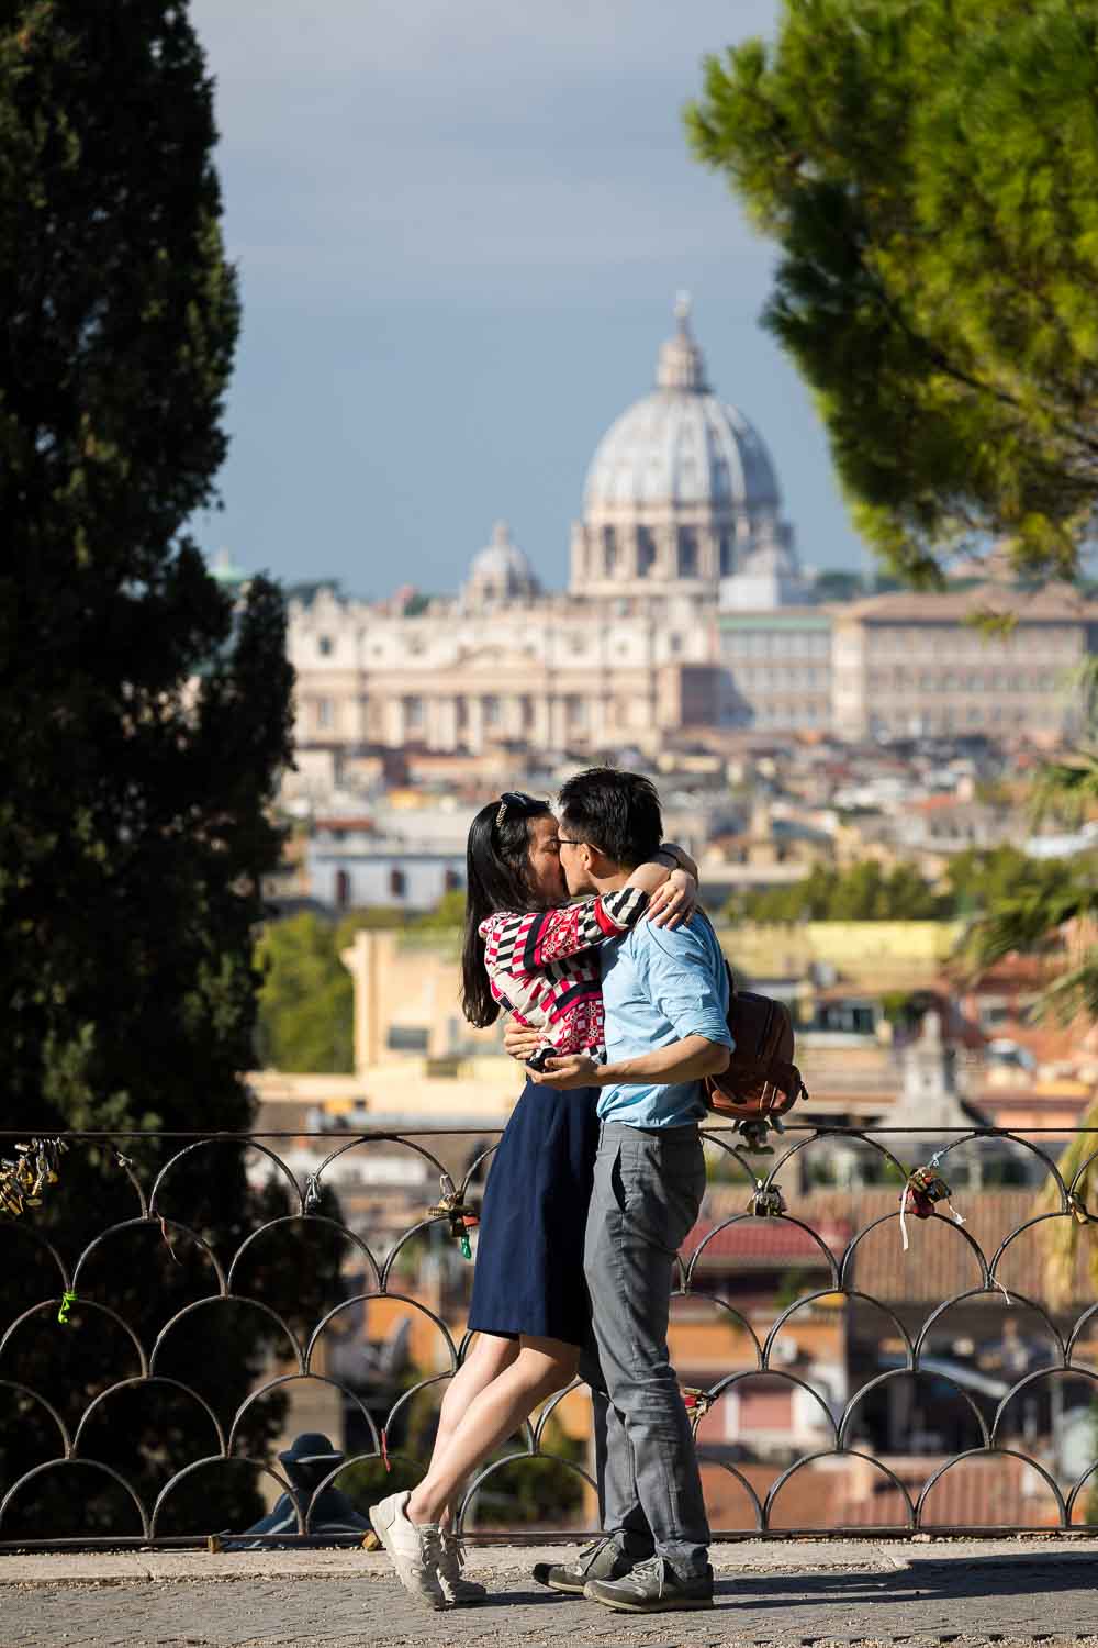
[[[393,1480],[390,1470],[413,1480],[426,1465],[423,1452],[403,1447],[413,1406],[423,1393],[438,1396],[471,1340],[463,1328],[471,1266],[458,1257],[458,1244],[491,1165],[494,1132],[59,1135],[67,1147],[59,1183],[44,1182],[30,1198],[36,1205],[0,1215],[0,1549],[237,1536],[244,1529],[229,1531],[224,1519],[247,1496],[219,1498],[211,1485],[240,1468],[288,1495],[295,1528],[280,1543],[291,1544],[314,1536],[313,1511],[326,1488],[351,1482],[359,1495],[375,1496]],[[1098,1131],[1070,1178],[1055,1152],[1065,1137],[1058,1129],[919,1135],[805,1124],[761,1155],[731,1129],[705,1129],[710,1195],[678,1259],[672,1355],[680,1373],[703,1369],[685,1399],[716,1539],[1001,1534],[1098,1521],[1098,1422],[1086,1399],[1098,1383],[1098,1302],[1090,1302],[1098,1224],[1085,1201]],[[2,1134],[0,1155],[15,1160],[16,1140],[30,1142]],[[468,1154],[471,1140],[477,1145]],[[859,1183],[813,1188],[807,1165],[833,1165],[840,1140],[848,1163],[851,1149],[861,1154]],[[927,1150],[925,1163],[919,1150],[930,1144],[937,1150]],[[942,1211],[942,1198],[915,1206],[914,1192],[927,1177],[912,1177],[914,1167],[953,1175],[951,1163],[973,1150],[1012,1163],[1014,1178],[1019,1163],[1029,1163],[1027,1183],[1014,1192],[958,1188],[955,1200],[966,1208],[960,1218],[958,1208]],[[408,1173],[392,1167],[405,1152],[420,1163],[420,1187],[410,1188]],[[333,1187],[346,1196],[342,1213]],[[930,1198],[940,1190],[930,1187]],[[219,1200],[226,1195],[230,1205]],[[181,1196],[196,1206],[191,1220],[181,1216]],[[752,1234],[759,1229],[770,1234]],[[1016,1285],[1019,1269],[1024,1279],[1047,1274],[1054,1229],[1073,1229],[1082,1243],[1068,1254],[1055,1304]],[[915,1231],[915,1248],[905,1251]],[[278,1244],[283,1257],[263,1262]],[[961,1254],[971,1285],[924,1299],[940,1285],[933,1254],[947,1282],[965,1280]],[[754,1279],[751,1299],[741,1297],[746,1277]],[[869,1290],[869,1280],[884,1292]],[[787,1299],[790,1290],[795,1297]],[[415,1318],[418,1340],[433,1340],[428,1355],[415,1353],[412,1371],[395,1356],[385,1368],[385,1346],[369,1332],[379,1310],[403,1312]],[[235,1312],[232,1332],[216,1325],[212,1312]],[[252,1313],[247,1332],[240,1312]],[[950,1312],[958,1312],[963,1332],[943,1355]],[[1017,1332],[1022,1313],[1035,1323],[1037,1350]],[[398,1348],[400,1332],[398,1323],[388,1333],[390,1348]],[[790,1350],[793,1332],[815,1351]],[[978,1333],[991,1335],[979,1341],[991,1353],[979,1355]],[[718,1373],[714,1353],[728,1355]],[[308,1498],[272,1462],[281,1407],[303,1381],[339,1399],[364,1444]],[[466,1533],[491,1483],[500,1472],[514,1477],[515,1465],[555,1460],[594,1488],[586,1462],[553,1450],[561,1402],[575,1389],[558,1393],[523,1429],[522,1445],[469,1483],[459,1511]],[[752,1389],[761,1398],[754,1406]],[[1082,1399],[1065,1407],[1065,1389]],[[899,1391],[907,1393],[902,1401]],[[729,1422],[733,1404],[739,1432]],[[1073,1450],[1065,1452],[1068,1432]],[[988,1477],[989,1467],[998,1475]],[[998,1500],[970,1495],[968,1513],[958,1515],[961,1500],[943,1498],[943,1485],[975,1468],[984,1486],[999,1483]],[[812,1480],[821,1490],[815,1510],[802,1491]],[[729,1491],[739,1510],[724,1515]],[[984,1515],[989,1503],[998,1505],[994,1516]],[[1027,1518],[1034,1503],[1039,1515]],[[571,1526],[556,1531],[579,1538]],[[481,1528],[476,1536],[491,1534]],[[543,1526],[538,1538],[547,1538]]]

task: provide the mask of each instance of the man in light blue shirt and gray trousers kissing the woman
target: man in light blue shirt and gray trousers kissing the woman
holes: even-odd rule
[[[594,768],[560,794],[571,893],[624,887],[660,844],[660,804],[635,773]],[[728,1068],[728,974],[705,916],[647,921],[603,946],[607,1063],[548,1060],[533,1079],[599,1086],[599,1149],[584,1241],[604,1539],[538,1574],[611,1608],[713,1604],[710,1526],[690,1421],[667,1348],[675,1256],[705,1193],[701,1078]],[[599,1393],[606,1401],[598,1402]]]

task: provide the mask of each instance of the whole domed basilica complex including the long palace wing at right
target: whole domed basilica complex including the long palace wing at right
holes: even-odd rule
[[[975,631],[978,610],[1009,628]],[[655,755],[714,728],[1055,745],[1078,727],[1098,606],[999,575],[817,605],[770,456],[713,392],[680,300],[655,387],[596,447],[566,592],[499,522],[454,595],[415,610],[321,587],[291,602],[288,644],[298,755],[328,768],[384,748]]]

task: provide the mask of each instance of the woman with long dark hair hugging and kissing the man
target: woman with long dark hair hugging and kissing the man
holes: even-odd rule
[[[542,1032],[542,1053],[606,1056],[598,948],[645,913],[690,915],[696,880],[677,847],[629,885],[565,903],[556,817],[519,791],[481,808],[466,849],[461,1005],[486,1027],[510,1012]],[[598,1147],[598,1088],[555,1093],[527,1081],[504,1131],[481,1208],[469,1330],[477,1338],[449,1381],[431,1463],[410,1493],[370,1510],[400,1580],[433,1607],[472,1602],[449,1534],[461,1486],[491,1450],[576,1374],[588,1333],[583,1231]]]

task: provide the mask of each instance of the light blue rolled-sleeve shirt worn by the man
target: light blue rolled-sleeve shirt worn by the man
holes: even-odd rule
[[[606,1004],[606,1058],[635,1058],[688,1035],[733,1046],[728,972],[716,933],[695,915],[668,931],[640,921],[599,951]],[[705,1114],[700,1081],[665,1086],[606,1086],[603,1121],[630,1127],[683,1127]]]

